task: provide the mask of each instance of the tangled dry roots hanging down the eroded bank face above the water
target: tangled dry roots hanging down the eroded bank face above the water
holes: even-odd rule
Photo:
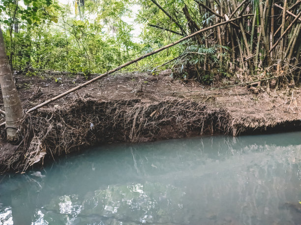
[[[58,105],[57,105],[58,106]],[[23,121],[24,148],[0,172],[25,171],[44,155],[54,158],[96,143],[141,142],[192,135],[231,133],[229,113],[190,100],[77,99],[41,109]]]

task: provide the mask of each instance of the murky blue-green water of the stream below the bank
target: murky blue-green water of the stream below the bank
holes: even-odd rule
[[[301,223],[301,132],[106,145],[0,176],[0,224]]]

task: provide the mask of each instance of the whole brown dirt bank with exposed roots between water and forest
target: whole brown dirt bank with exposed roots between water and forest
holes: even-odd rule
[[[23,172],[39,159],[42,163],[43,157],[52,160],[97,143],[301,127],[301,91],[297,88],[267,92],[262,86],[259,94],[241,86],[206,91],[211,85],[182,82],[169,75],[165,71],[156,76],[132,73],[105,77],[31,113],[23,122],[22,143],[14,146],[2,141],[0,173]],[[61,83],[56,83],[58,76],[19,76],[17,86],[24,109],[86,81],[82,76],[61,76]],[[220,80],[213,87],[233,84]],[[2,128],[2,140],[4,131]]]

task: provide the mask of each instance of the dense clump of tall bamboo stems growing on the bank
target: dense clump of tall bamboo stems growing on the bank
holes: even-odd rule
[[[151,1],[178,26],[174,31],[169,30],[170,32],[187,34],[185,27],[176,23],[176,14],[173,18],[158,2]],[[216,60],[215,65],[214,61],[209,61],[203,53],[204,74],[211,71],[213,65],[230,73],[238,70],[242,75],[253,76],[273,73],[299,81],[301,0],[194,0],[194,2],[195,4],[191,4],[190,7],[184,4],[181,12],[187,21],[189,32],[241,15],[252,14],[251,17],[219,26],[214,32],[208,31],[196,37],[196,45],[207,49],[210,46],[217,48],[219,62]],[[198,11],[193,11],[192,7]],[[199,16],[195,16],[196,13]],[[206,17],[209,18],[207,21]],[[160,28],[159,25],[151,26]],[[187,52],[202,53],[200,50]],[[190,62],[192,59],[193,57],[190,58]]]

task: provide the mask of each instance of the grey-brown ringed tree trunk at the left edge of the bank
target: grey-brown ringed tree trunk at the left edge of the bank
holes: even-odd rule
[[[18,129],[23,114],[20,98],[5,53],[0,27],[0,85],[5,110],[6,134],[8,140],[18,137]]]

